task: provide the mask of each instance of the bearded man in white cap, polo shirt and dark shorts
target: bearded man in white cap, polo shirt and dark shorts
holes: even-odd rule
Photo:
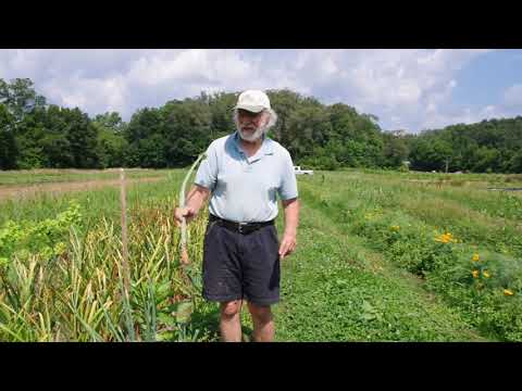
[[[269,97],[243,92],[234,108],[237,130],[207,150],[178,222],[190,222],[210,195],[203,249],[203,297],[221,303],[222,341],[241,341],[246,300],[253,340],[274,339],[271,305],[279,300],[279,258],[294,252],[299,219],[297,181],[288,151],[266,137],[277,117]],[[274,226],[276,195],[285,211],[281,244]]]

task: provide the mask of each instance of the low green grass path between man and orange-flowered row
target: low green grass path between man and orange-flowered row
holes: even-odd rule
[[[298,250],[283,262],[278,341],[484,340],[414,277],[340,229],[308,186],[300,184]]]

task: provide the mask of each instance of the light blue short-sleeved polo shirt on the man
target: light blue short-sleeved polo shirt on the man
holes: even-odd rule
[[[209,211],[237,223],[268,222],[277,216],[277,198],[297,198],[297,180],[288,151],[265,137],[250,157],[243,151],[239,135],[212,141],[201,162],[195,184],[211,190]]]

